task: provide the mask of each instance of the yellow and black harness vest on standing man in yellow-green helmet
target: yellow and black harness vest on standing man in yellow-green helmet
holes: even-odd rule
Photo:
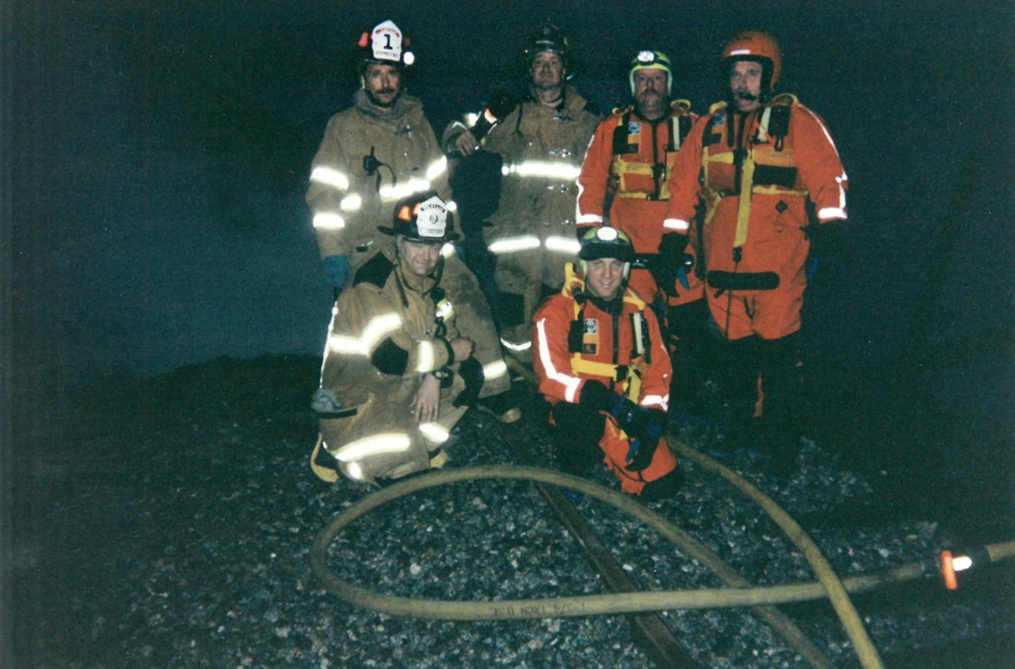
[[[669,200],[670,175],[677,151],[691,131],[691,104],[686,99],[675,99],[670,103],[670,118],[667,120],[670,138],[666,144],[665,156],[659,159],[656,152],[655,137],[653,137],[653,162],[637,162],[627,160],[625,155],[639,152],[641,130],[631,132],[631,108],[614,110],[617,117],[617,127],[613,130],[613,161],[610,163],[610,184],[616,191],[616,197],[635,198],[639,200]],[[649,180],[653,190],[646,191],[629,183],[629,177],[636,176]],[[641,182],[646,183],[645,181]]]

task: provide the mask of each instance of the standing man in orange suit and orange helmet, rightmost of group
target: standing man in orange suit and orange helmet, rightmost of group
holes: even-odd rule
[[[785,476],[800,448],[795,335],[807,255],[812,244],[834,246],[841,235],[847,177],[822,120],[796,96],[774,94],[782,53],[771,36],[741,32],[723,61],[729,99],[714,105],[684,142],[670,178],[665,225],[688,231],[703,195],[705,290],[727,342],[734,418],[741,438],[749,434],[760,374],[762,442],[772,452],[771,473]],[[809,218],[809,203],[816,220]]]

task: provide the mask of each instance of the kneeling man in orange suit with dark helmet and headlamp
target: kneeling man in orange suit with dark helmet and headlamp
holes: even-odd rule
[[[627,492],[670,495],[672,367],[656,315],[627,287],[634,247],[608,226],[589,229],[581,244],[582,273],[567,264],[563,288],[536,312],[532,338],[557,458],[572,474],[602,460]]]

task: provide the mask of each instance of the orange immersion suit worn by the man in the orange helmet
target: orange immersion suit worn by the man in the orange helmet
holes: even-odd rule
[[[723,336],[799,330],[808,200],[820,223],[847,217],[845,173],[821,119],[787,93],[746,115],[719,103],[694,125],[669,187],[665,225],[684,229],[703,187],[706,291]]]

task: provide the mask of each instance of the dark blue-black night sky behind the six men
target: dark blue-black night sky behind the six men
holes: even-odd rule
[[[928,331],[1012,325],[1013,10],[994,2],[268,2],[16,0],[3,9],[5,340],[15,388],[321,350],[329,290],[302,203],[358,35],[394,19],[439,134],[497,85],[539,20],[571,38],[604,111],[637,49],[675,93],[720,98],[741,28],[784,49],[784,90],[822,115],[851,182],[853,261],[814,308],[822,345],[897,354],[949,206],[960,243]],[[664,11],[665,10],[665,11]],[[975,187],[956,193],[970,160]],[[965,165],[965,168],[963,168]],[[960,197],[959,197],[960,196]],[[957,199],[956,199],[957,198]]]

